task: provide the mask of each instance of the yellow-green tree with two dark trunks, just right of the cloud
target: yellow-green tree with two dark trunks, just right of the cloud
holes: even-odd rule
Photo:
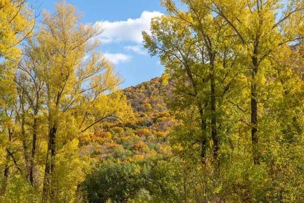
[[[219,150],[217,111],[238,72],[234,43],[229,43],[232,30],[222,17],[212,16],[212,11],[200,1],[183,1],[188,7],[186,12],[178,10],[172,1],[162,3],[169,15],[151,22],[151,36],[143,32],[145,47],[151,55],[157,54],[161,58],[168,75],[179,78],[173,85],[177,97],[185,100],[178,101],[176,106],[197,106],[204,158],[207,123],[211,120],[213,156],[216,159]],[[192,145],[197,143],[195,139]]]

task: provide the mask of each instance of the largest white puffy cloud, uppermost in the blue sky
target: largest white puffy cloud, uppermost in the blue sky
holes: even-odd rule
[[[126,21],[97,21],[95,24],[101,26],[104,31],[98,36],[102,43],[113,43],[121,41],[131,41],[137,44],[142,43],[141,31],[144,30],[150,33],[151,18],[161,16],[158,11],[142,12],[141,16],[136,19],[129,18]]]

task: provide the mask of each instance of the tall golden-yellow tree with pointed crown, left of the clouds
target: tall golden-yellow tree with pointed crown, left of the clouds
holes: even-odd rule
[[[56,183],[60,179],[52,174],[60,173],[56,171],[60,150],[95,123],[116,116],[124,102],[118,96],[106,95],[116,90],[122,80],[111,63],[96,50],[100,43],[94,37],[102,29],[80,24],[82,15],[63,1],[56,3],[55,13],[43,13],[37,37],[30,43],[34,55],[39,56],[36,63],[46,89],[49,132],[45,199],[59,198]],[[84,61],[88,54],[89,59]]]

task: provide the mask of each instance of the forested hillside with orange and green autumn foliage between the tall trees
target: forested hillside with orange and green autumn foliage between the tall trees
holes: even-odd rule
[[[164,103],[168,91],[160,78],[124,89],[134,117],[103,122],[94,136],[80,139],[81,154],[94,164],[84,183],[91,202],[140,202],[152,196],[169,200],[178,195],[168,182],[173,177],[165,175],[173,167],[168,131],[176,124]]]

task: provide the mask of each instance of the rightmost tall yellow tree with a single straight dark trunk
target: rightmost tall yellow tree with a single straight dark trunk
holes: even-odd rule
[[[206,1],[204,5],[212,12],[224,18],[238,36],[243,46],[243,52],[250,77],[250,125],[252,139],[252,153],[254,164],[260,163],[260,149],[258,147],[258,103],[263,104],[261,92],[258,88],[263,85],[265,64],[272,58],[273,53],[286,43],[301,39],[297,29],[290,26],[302,26],[302,1],[239,1],[238,4],[226,1]],[[277,20],[279,11],[282,16]]]

